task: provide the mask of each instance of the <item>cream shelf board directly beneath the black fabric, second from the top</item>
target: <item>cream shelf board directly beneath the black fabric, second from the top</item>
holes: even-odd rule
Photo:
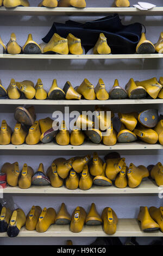
[[[0,54],[0,59],[155,59],[163,54]]]

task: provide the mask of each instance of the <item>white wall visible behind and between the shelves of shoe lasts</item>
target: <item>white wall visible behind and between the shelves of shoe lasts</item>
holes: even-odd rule
[[[36,6],[40,1],[30,0],[32,6]],[[87,7],[110,7],[112,1],[106,0],[87,0]],[[151,3],[156,3],[158,6],[162,5],[161,0],[151,0]],[[136,3],[136,1],[130,1],[131,4]],[[9,41],[10,33],[14,32],[17,36],[17,42],[21,46],[26,42],[28,33],[33,34],[33,39],[40,43],[41,38],[47,34],[53,21],[64,22],[68,17],[22,17],[22,16],[0,16],[0,34],[5,44]],[[71,17],[73,20],[85,21],[93,20],[96,17]],[[162,31],[162,17],[122,17],[124,24],[141,22],[146,26],[147,29],[147,39],[155,43]],[[37,78],[41,78],[45,86],[45,89],[51,87],[52,80],[57,78],[58,85],[62,88],[67,80],[72,82],[75,87],[79,85],[84,78],[90,80],[92,84],[97,83],[99,78],[103,78],[106,88],[109,90],[115,78],[118,78],[120,85],[122,87],[128,82],[130,77],[135,80],[145,80],[156,76],[159,78],[162,76],[162,59],[145,59],[145,60],[14,60],[14,59],[0,59],[0,78],[2,80],[3,86],[8,87],[10,79],[15,78],[16,81],[22,80],[32,80],[36,83]],[[16,107],[16,106],[14,106]],[[2,106],[0,113],[0,122],[2,119],[6,119],[12,129],[15,126],[16,121],[14,120],[13,106]],[[150,106],[110,106],[115,112],[126,112],[141,111]],[[159,108],[162,112],[161,106],[154,105],[154,108]],[[92,109],[91,106],[83,106],[80,109]],[[60,109],[59,106],[36,106],[37,119],[44,117],[51,117],[51,114],[55,109]],[[63,107],[61,107],[63,109]],[[71,106],[73,109],[73,106]],[[74,109],[79,109],[79,107],[74,107]],[[85,154],[78,152],[78,155]],[[158,161],[162,161],[162,151],[121,151],[122,156],[126,157],[127,164],[134,162],[134,164],[155,164]],[[17,155],[18,154],[18,155]],[[18,161],[20,164],[20,169],[26,162],[30,166],[37,169],[40,162],[43,162],[45,170],[52,163],[52,161],[58,156],[64,154],[68,159],[66,151],[60,153],[55,151],[50,152],[37,152],[37,151],[1,151],[0,156],[0,167],[5,162],[15,162]],[[105,155],[106,151],[101,152],[101,155]],[[148,155],[149,154],[149,155]],[[10,197],[10,198],[9,198]],[[86,198],[85,198],[86,197]],[[18,207],[21,207],[25,213],[29,211],[30,207],[34,204],[43,207],[52,206],[58,211],[60,204],[65,202],[68,211],[72,213],[73,209],[80,205],[84,206],[85,210],[88,211],[92,202],[96,203],[97,210],[99,213],[105,208],[105,206],[111,206],[117,213],[119,218],[136,218],[139,212],[139,206],[160,206],[161,200],[158,195],[109,195],[109,196],[55,196],[55,195],[31,195],[31,196],[21,196],[21,195],[5,195],[5,199],[12,200]],[[15,207],[16,207],[15,205]],[[0,240],[0,245],[8,244],[45,244],[45,245],[59,245],[64,244],[66,238],[2,238]],[[86,244],[89,245],[90,242],[94,241],[94,238],[72,238],[75,245]],[[123,239],[124,240],[124,239]],[[149,243],[149,239],[139,239],[140,243]]]

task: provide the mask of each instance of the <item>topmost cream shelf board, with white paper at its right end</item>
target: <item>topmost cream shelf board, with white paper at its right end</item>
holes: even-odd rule
[[[0,15],[25,15],[25,16],[105,16],[108,14],[118,13],[122,16],[161,16],[163,7],[155,7],[151,10],[141,11],[135,7],[117,8],[117,7],[88,7],[78,9],[68,8],[46,8],[46,7],[16,7],[0,8]]]

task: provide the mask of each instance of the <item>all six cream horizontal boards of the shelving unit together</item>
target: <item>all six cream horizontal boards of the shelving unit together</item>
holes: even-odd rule
[[[118,13],[119,15],[125,16],[162,16],[163,7],[156,7],[148,11],[140,11],[136,8],[85,8],[83,10],[76,8],[39,8],[39,7],[17,7],[14,9],[6,9],[4,7],[0,8],[0,15],[26,15],[26,16],[105,16],[107,14]],[[39,54],[39,55],[10,55],[1,54],[0,59],[153,59],[153,58],[163,58],[163,54],[115,54],[115,55],[49,55],[49,54]],[[109,100],[109,101],[36,101],[36,100],[1,100],[0,105],[129,105],[129,104],[160,104],[163,103],[162,100]],[[54,143],[49,144],[37,144],[37,145],[0,145],[0,150],[145,150],[145,149],[163,149],[160,144],[145,144],[145,143],[130,143],[130,144],[116,144],[114,146],[96,145],[93,143],[85,143],[74,147],[72,145],[67,145],[66,147],[56,145]],[[154,184],[153,181],[148,180],[142,182],[142,184],[137,188],[116,188],[111,187],[92,187],[89,191],[75,190],[70,191],[65,187],[53,188],[51,186],[46,187],[31,187],[28,190],[21,190],[18,187],[7,187],[4,189],[4,193],[17,193],[17,194],[155,194],[159,193],[158,186]],[[84,226],[82,232],[72,233],[70,231],[69,225],[51,225],[51,227],[45,233],[37,233],[36,231],[28,231],[23,227],[20,231],[18,237],[97,237],[97,236],[109,236],[104,233],[102,226]],[[141,230],[140,223],[136,219],[120,219],[118,220],[117,231],[114,235],[118,237],[126,236],[137,236],[137,237],[162,237],[163,233],[159,230],[144,233]],[[7,233],[0,233],[0,237],[8,237]]]

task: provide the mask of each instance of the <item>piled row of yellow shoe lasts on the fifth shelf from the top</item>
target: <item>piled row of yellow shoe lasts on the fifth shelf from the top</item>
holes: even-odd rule
[[[155,180],[156,185],[163,186],[163,166],[160,162],[155,165],[136,167],[133,163],[126,166],[125,158],[118,153],[110,153],[105,156],[105,162],[93,153],[90,155],[71,157],[64,159],[62,157],[55,159],[48,167],[45,174],[43,164],[40,163],[37,172],[34,173],[32,167],[25,163],[20,172],[18,163],[4,163],[1,173],[7,176],[7,183],[10,186],[19,186],[27,189],[31,185],[49,185],[61,187],[66,185],[70,190],[78,187],[81,190],[89,190],[92,185],[111,186],[114,182],[118,188],[138,187],[142,180],[146,180],[149,175]],[[65,180],[65,182],[64,182]]]

